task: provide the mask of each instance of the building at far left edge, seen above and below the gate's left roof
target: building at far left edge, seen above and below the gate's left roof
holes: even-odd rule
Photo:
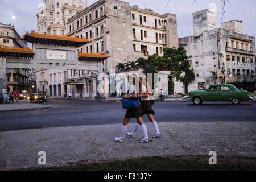
[[[0,23],[0,46],[10,48],[27,48],[27,44],[19,40],[20,35],[11,24]],[[6,91],[29,90],[33,79],[29,69],[7,69]]]

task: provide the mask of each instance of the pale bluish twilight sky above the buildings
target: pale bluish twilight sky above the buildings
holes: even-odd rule
[[[171,13],[177,15],[177,30],[179,38],[193,34],[192,13],[208,9],[210,3],[217,6],[217,27],[221,27],[221,22],[229,20],[243,21],[243,34],[256,35],[256,1],[255,0],[229,0],[226,4],[225,14],[221,20],[221,0],[125,0],[130,5],[138,5],[139,8],[150,8],[155,12],[164,14]],[[16,31],[20,35],[25,32],[36,30],[36,13],[39,3],[43,0],[1,0],[0,20],[3,24],[14,24]],[[97,0],[88,0],[88,6]],[[16,19],[12,19],[12,16]]]

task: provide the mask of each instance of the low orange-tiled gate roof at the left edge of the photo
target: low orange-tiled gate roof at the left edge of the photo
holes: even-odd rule
[[[13,47],[2,47],[0,45],[0,57],[10,58],[21,58],[21,59],[32,59],[35,52],[30,48],[13,48]]]

